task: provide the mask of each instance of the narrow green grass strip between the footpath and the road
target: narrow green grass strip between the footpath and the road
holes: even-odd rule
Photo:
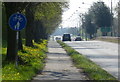
[[[66,50],[67,54],[71,56],[75,66],[83,69],[91,80],[117,80],[115,77],[103,70],[99,65],[78,53],[67,44],[61,41],[58,41],[58,43]]]

